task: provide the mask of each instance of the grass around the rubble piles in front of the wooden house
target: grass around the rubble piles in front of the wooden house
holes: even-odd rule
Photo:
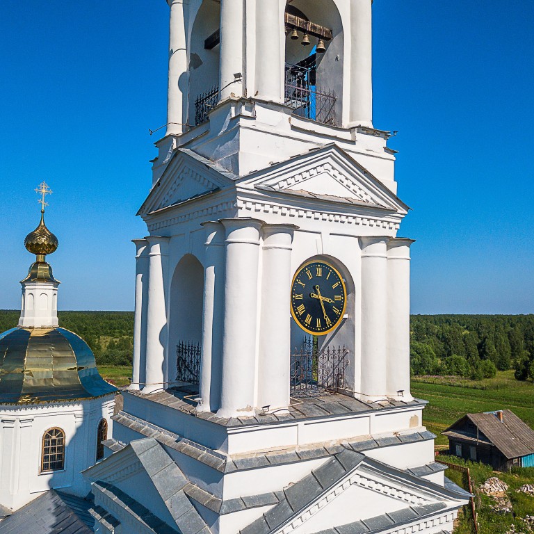
[[[498,473],[492,471],[492,468],[485,464],[469,462],[457,458],[455,456],[439,455],[437,460],[443,460],[464,467],[469,467],[471,474],[471,481],[473,483],[473,490],[475,493],[476,511],[478,513],[478,524],[480,526],[480,534],[504,534],[508,532],[513,525],[515,525],[516,531],[529,532],[524,518],[527,515],[534,515],[534,496],[526,495],[524,493],[518,493],[517,489],[524,484],[532,484],[534,480],[534,468],[516,468],[512,473]],[[451,478],[455,483],[468,489],[467,480],[465,476],[457,471],[448,469],[446,476]],[[506,484],[508,484],[508,491],[506,495],[512,502],[513,512],[512,514],[497,514],[492,510],[492,504],[494,499],[490,496],[481,494],[478,491],[478,487],[483,484],[488,478],[492,476],[498,476]],[[464,510],[463,516],[460,518],[460,524],[455,529],[455,534],[469,533],[471,526],[469,510]]]

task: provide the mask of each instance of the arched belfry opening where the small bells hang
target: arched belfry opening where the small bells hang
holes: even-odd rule
[[[309,46],[302,46],[303,33],[298,31],[298,39],[291,39],[291,29],[286,28],[286,80],[294,79],[289,65],[304,65],[310,67],[315,64],[315,80],[310,85],[313,90],[330,92],[335,98],[335,120],[330,119],[321,111],[321,104],[316,103],[316,116],[311,117],[319,122],[327,122],[341,126],[343,108],[343,63],[344,63],[344,39],[343,22],[334,0],[289,0],[286,4],[286,13],[296,15],[301,19],[319,24],[325,29],[332,31],[332,39],[325,40],[326,51],[323,54],[314,54],[318,38],[309,35]],[[314,61],[315,58],[315,61]],[[287,95],[287,90],[286,90]],[[286,98],[286,101],[288,99]],[[329,106],[329,104],[325,104]],[[297,115],[302,115],[297,111]],[[327,119],[327,120],[325,120]]]

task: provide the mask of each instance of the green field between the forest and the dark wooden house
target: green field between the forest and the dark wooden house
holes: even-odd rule
[[[413,377],[412,395],[428,401],[423,424],[438,436],[438,448],[448,445],[440,432],[467,413],[512,410],[534,428],[534,385],[515,380],[513,371],[499,371],[495,378],[478,381]]]

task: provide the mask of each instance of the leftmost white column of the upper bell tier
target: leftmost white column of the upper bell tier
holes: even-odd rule
[[[170,7],[169,77],[167,95],[167,133],[180,135],[187,122],[188,60],[186,48],[185,0],[167,0]]]

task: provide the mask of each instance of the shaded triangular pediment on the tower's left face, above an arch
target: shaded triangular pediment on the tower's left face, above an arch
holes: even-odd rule
[[[229,173],[191,150],[179,149],[154,184],[138,215],[147,215],[216,193],[232,182]]]

